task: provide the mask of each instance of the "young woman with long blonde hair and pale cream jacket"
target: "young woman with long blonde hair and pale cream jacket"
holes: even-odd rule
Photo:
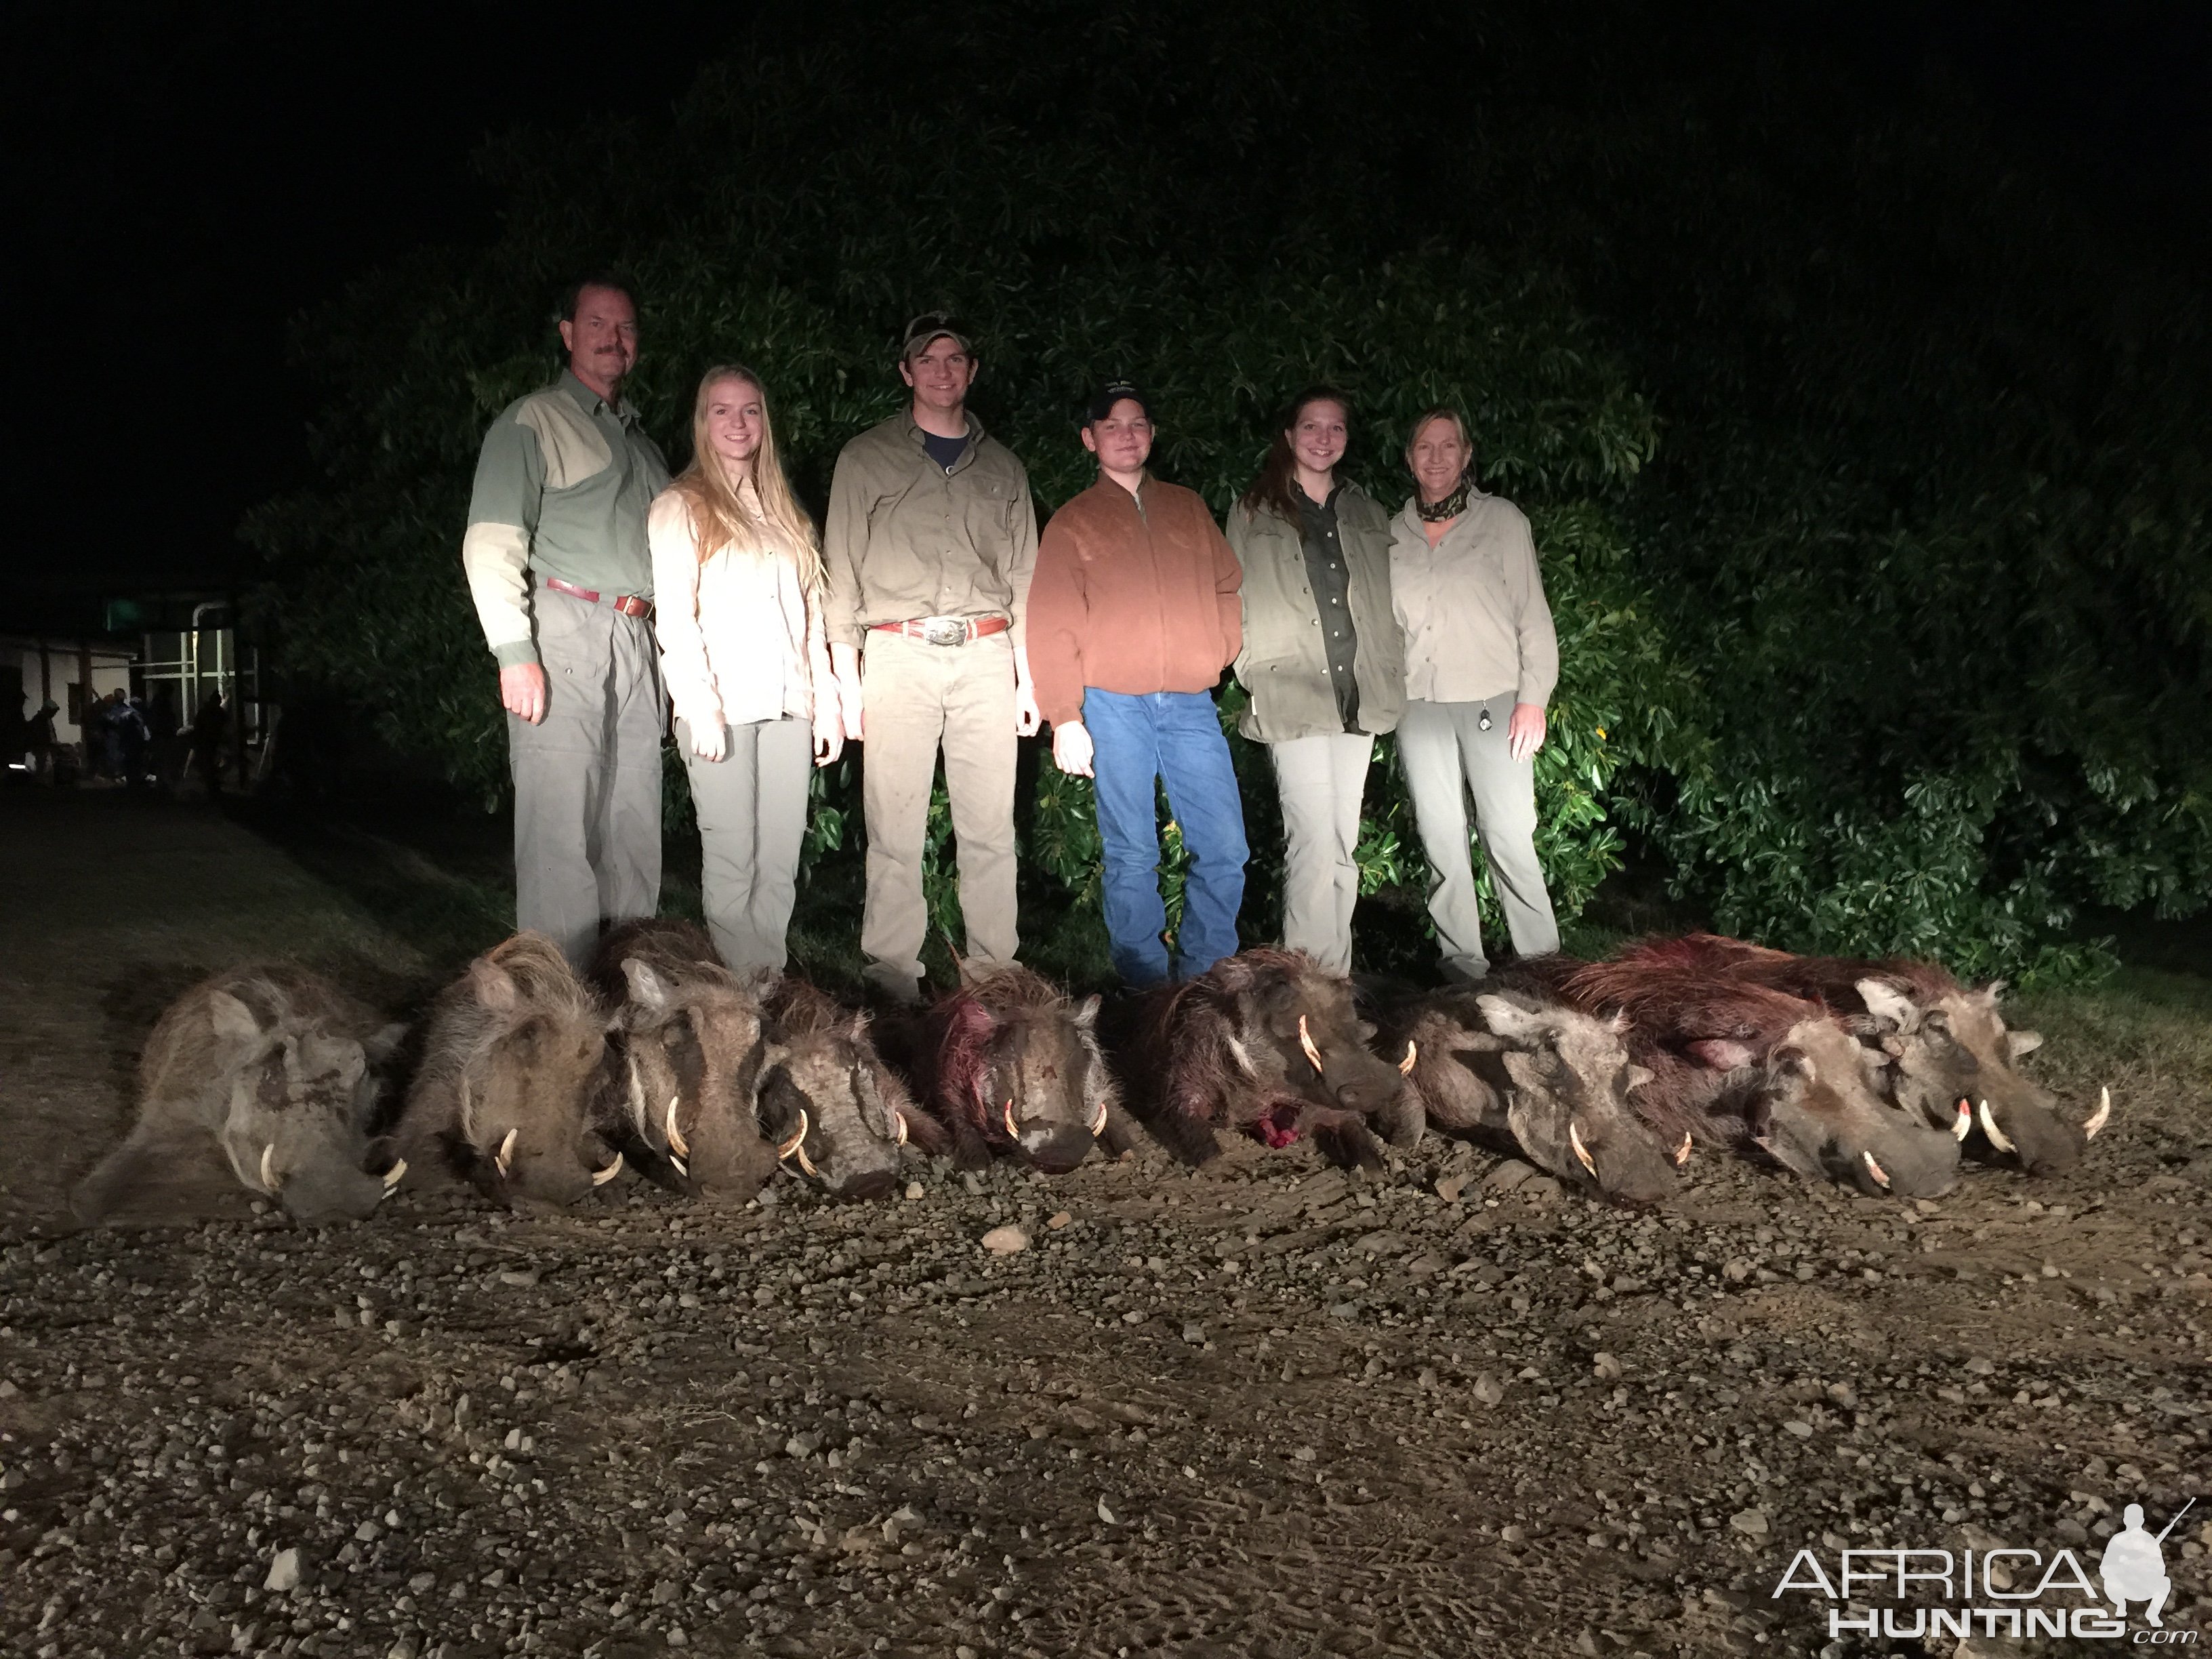
[[[732,969],[781,969],[807,761],[845,737],[823,639],[821,542],[776,460],[761,378],[708,369],[692,462],[646,518],[661,675],[699,810],[708,931]]]

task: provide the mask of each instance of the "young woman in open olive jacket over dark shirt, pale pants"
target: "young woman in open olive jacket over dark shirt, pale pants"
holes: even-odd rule
[[[1347,440],[1345,396],[1305,392],[1228,518],[1243,566],[1237,679],[1252,697],[1239,730],[1267,745],[1283,799],[1283,945],[1334,973],[1352,969],[1367,763],[1405,701],[1389,520],[1336,476]]]

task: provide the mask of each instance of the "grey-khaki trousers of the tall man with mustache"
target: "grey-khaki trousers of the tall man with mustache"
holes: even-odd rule
[[[515,925],[582,967],[602,920],[661,900],[661,661],[644,617],[555,588],[531,597],[546,717],[507,717]]]

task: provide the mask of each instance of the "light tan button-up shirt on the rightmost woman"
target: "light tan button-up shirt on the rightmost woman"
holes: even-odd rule
[[[1471,493],[1433,549],[1409,500],[1391,520],[1389,591],[1405,633],[1405,695],[1482,703],[1513,692],[1544,708],[1559,684],[1559,637],[1526,515]]]

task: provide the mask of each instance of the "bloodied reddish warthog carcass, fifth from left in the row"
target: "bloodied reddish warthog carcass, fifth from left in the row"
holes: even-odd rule
[[[1011,1152],[1066,1175],[1106,1137],[1135,1146],[1097,1044],[1099,998],[1073,1002],[1026,967],[960,969],[964,984],[929,1004],[907,1033],[916,1093],[978,1168]]]

